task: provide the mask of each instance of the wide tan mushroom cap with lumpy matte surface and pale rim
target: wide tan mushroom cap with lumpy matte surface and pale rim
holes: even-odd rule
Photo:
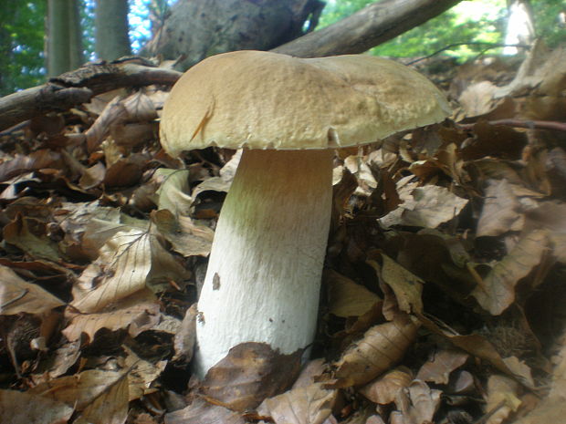
[[[243,50],[184,73],[163,107],[161,140],[171,155],[209,146],[329,149],[371,143],[450,113],[433,83],[392,60]]]

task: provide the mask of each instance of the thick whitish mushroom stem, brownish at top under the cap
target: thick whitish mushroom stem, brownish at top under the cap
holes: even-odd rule
[[[312,343],[331,200],[331,150],[244,151],[198,301],[198,376],[241,343]]]

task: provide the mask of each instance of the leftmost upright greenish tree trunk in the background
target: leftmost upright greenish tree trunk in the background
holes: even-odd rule
[[[70,69],[68,15],[68,0],[48,0],[47,77],[56,77]]]

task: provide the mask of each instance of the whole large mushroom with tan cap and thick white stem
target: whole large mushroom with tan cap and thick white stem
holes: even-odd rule
[[[428,79],[365,55],[237,51],[208,57],[179,79],[162,111],[163,149],[243,149],[198,300],[198,376],[241,343],[284,354],[312,344],[334,150],[449,114]]]

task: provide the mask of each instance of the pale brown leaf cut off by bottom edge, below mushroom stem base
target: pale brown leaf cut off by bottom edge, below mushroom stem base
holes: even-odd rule
[[[237,412],[196,398],[188,407],[166,414],[165,424],[246,424],[246,421]]]

